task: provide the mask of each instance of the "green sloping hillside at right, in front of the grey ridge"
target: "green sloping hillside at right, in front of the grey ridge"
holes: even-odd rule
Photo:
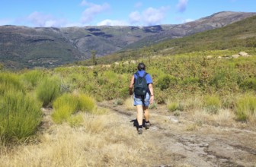
[[[256,17],[249,17],[234,24],[215,30],[208,30],[185,36],[179,39],[170,39],[149,47],[136,50],[123,50],[103,58],[98,58],[98,63],[143,58],[152,55],[175,55],[195,51],[230,50],[233,54],[246,51],[251,54],[256,52]],[[231,53],[231,54],[232,54]],[[90,65],[91,61],[79,62]]]

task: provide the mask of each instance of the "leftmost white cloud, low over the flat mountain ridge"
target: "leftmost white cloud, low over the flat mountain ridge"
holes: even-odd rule
[[[34,11],[26,20],[34,27],[65,27],[66,20]]]

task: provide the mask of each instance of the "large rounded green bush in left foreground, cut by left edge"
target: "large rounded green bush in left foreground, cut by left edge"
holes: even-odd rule
[[[0,97],[0,137],[2,141],[22,139],[33,134],[42,113],[34,99],[21,91],[7,90]]]

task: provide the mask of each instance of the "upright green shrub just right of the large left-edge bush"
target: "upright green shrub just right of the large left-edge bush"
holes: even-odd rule
[[[43,107],[51,106],[61,92],[61,82],[57,77],[45,77],[37,87],[37,98],[43,102]]]

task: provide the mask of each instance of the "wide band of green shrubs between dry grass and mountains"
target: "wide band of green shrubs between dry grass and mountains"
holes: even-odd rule
[[[256,58],[217,58],[226,52],[229,51],[191,52],[93,68],[2,72],[2,143],[34,134],[42,118],[40,107],[53,107],[52,118],[57,124],[77,125],[82,123],[78,112],[97,112],[94,101],[115,100],[117,105],[123,105],[129,97],[127,85],[139,61],[146,63],[154,80],[155,108],[164,104],[170,112],[202,109],[210,115],[229,109],[236,121],[254,124]],[[186,102],[187,97],[201,100],[191,104]]]

